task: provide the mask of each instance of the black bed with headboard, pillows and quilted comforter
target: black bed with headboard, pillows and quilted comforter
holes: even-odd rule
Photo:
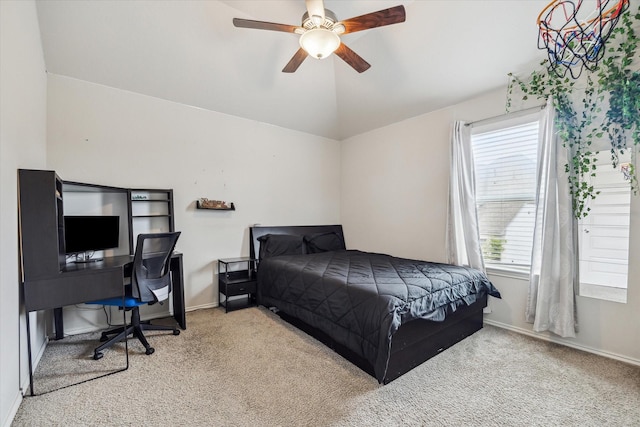
[[[258,304],[388,384],[482,328],[480,271],[346,250],[340,225],[250,228]]]

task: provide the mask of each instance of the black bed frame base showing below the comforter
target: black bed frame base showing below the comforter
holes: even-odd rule
[[[402,325],[393,336],[387,373],[382,383],[390,383],[416,366],[438,355],[443,350],[482,329],[482,309],[486,305],[487,297],[485,296],[470,306],[458,308],[454,313],[447,315],[447,319],[444,322],[418,319]],[[375,377],[373,366],[363,357],[335,342],[326,333],[302,320],[283,311],[276,312],[286,322],[311,335],[369,375]]]

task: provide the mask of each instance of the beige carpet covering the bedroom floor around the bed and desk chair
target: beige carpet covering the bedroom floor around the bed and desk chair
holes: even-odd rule
[[[491,326],[386,386],[264,308],[149,335],[155,354],[131,340],[127,371],[26,397],[13,425],[640,425],[640,368]]]

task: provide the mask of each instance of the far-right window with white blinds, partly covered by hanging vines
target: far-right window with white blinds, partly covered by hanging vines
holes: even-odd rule
[[[597,153],[598,169],[591,184],[600,191],[579,221],[580,295],[627,301],[631,186],[625,179],[631,156],[621,156],[617,169],[611,153]]]

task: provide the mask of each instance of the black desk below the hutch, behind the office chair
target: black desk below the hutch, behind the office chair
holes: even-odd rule
[[[64,337],[62,307],[122,296],[125,278],[131,277],[132,265],[133,255],[105,257],[98,262],[66,264],[55,277],[27,280],[23,284],[25,310],[29,313],[54,309],[56,339],[61,339]],[[173,254],[170,269],[172,273],[173,317],[182,329],[186,329],[181,253]],[[26,317],[29,383],[33,394],[31,333],[29,316]]]

